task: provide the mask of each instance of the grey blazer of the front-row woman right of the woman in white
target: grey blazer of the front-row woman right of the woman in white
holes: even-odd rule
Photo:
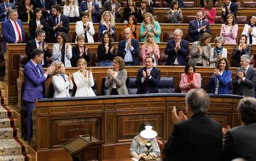
[[[128,89],[126,87],[126,78],[127,78],[127,71],[125,69],[120,70],[117,73],[117,76],[114,77],[114,80],[110,78],[109,73],[107,74],[105,87],[108,88],[107,96],[111,94],[113,89],[113,83],[116,83],[116,89],[119,95],[121,94],[129,94]]]

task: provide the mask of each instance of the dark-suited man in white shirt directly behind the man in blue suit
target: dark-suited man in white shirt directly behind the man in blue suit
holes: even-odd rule
[[[32,51],[34,49],[40,49],[44,52],[43,60],[41,61],[41,65],[45,68],[48,67],[47,57],[51,57],[51,52],[49,51],[48,44],[43,42],[45,39],[45,31],[43,30],[36,30],[35,32],[35,39],[28,41],[26,44],[25,50],[27,54],[27,60],[29,61],[32,59]]]

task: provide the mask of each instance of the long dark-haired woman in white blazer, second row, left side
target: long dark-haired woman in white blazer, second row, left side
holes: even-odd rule
[[[65,67],[72,67],[70,62],[70,59],[72,58],[72,47],[69,44],[69,38],[67,37],[66,33],[61,32],[57,36],[57,40],[59,43],[53,44],[52,64],[62,62]]]

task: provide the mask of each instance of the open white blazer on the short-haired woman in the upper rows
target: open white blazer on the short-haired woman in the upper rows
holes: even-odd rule
[[[93,23],[92,22],[88,22],[88,23],[89,23],[89,30],[86,31],[87,41],[88,43],[94,43],[93,35],[95,31],[94,31]],[[75,33],[77,33],[77,35],[82,35],[83,37],[85,36],[85,31],[83,30],[82,21],[75,22]],[[77,43],[77,38],[75,38],[75,43]]]

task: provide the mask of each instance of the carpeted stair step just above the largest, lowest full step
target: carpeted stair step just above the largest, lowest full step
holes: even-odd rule
[[[19,128],[0,128],[0,139],[21,138]]]

